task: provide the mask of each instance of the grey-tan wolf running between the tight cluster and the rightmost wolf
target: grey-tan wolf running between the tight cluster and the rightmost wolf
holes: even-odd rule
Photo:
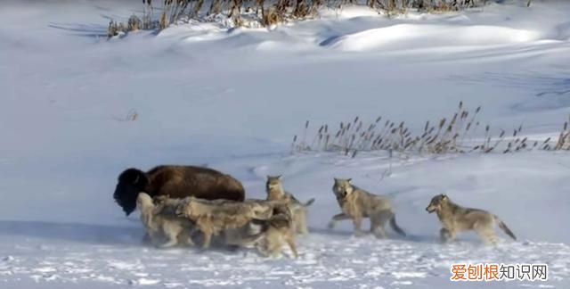
[[[362,235],[363,218],[371,219],[371,233],[377,238],[385,238],[385,227],[390,227],[399,235],[405,236],[402,228],[395,222],[392,203],[384,196],[371,194],[351,183],[351,178],[334,178],[332,192],[337,198],[341,213],[330,219],[329,228],[333,228],[338,220],[352,219],[356,235]]]

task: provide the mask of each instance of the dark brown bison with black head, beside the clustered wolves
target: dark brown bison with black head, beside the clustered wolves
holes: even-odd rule
[[[195,166],[158,166],[147,172],[140,169],[126,169],[118,176],[113,198],[126,216],[136,208],[136,197],[140,192],[197,198],[243,201],[245,191],[240,181],[215,169]]]

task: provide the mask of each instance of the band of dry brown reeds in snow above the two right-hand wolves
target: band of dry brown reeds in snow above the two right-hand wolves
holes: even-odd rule
[[[508,136],[503,129],[495,130],[478,120],[481,107],[469,110],[460,102],[451,116],[436,122],[427,121],[419,132],[412,131],[404,121],[395,122],[378,117],[373,122],[364,122],[360,117],[341,121],[337,129],[328,124],[318,127],[314,136],[309,136],[309,121],[301,137],[294,136],[292,152],[342,152],[353,157],[358,152],[387,151],[415,154],[446,153],[516,153],[542,150],[570,150],[570,130],[566,121],[558,141],[551,138],[531,141],[522,136],[522,125]],[[477,137],[476,137],[477,136]]]

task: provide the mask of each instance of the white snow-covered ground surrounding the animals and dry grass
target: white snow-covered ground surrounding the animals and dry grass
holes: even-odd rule
[[[106,41],[140,1],[0,3],[0,286],[121,288],[517,288],[570,286],[570,154],[291,155],[305,120],[358,115],[413,129],[463,101],[494,132],[556,136],[570,113],[570,3],[505,1],[469,12],[365,8],[266,29],[194,23]],[[120,121],[136,111],[134,121]],[[118,173],[207,164],[263,198],[265,175],[310,208],[300,257],[158,250],[112,201]],[[391,166],[391,174],[387,169]],[[395,202],[408,237],[355,237],[326,224],[332,178]],[[425,207],[447,193],[493,211],[518,237],[437,242]],[[546,282],[452,283],[452,263],[545,263]]]

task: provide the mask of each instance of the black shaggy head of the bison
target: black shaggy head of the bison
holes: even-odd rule
[[[113,198],[123,208],[126,216],[136,209],[136,197],[148,184],[149,178],[140,169],[126,169],[118,176]]]

